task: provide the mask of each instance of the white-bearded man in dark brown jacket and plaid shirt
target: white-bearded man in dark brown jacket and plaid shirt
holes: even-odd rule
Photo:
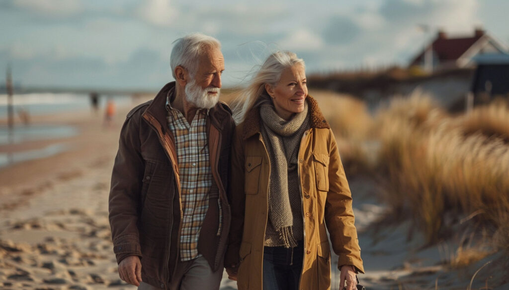
[[[170,62],[176,81],[134,108],[120,134],[109,194],[119,275],[138,289],[219,289],[235,126],[218,103],[220,43],[188,35]]]

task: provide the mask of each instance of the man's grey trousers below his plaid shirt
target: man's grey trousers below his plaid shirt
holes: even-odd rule
[[[179,261],[175,267],[175,275],[169,288],[171,290],[210,289],[219,290],[223,274],[223,261],[216,272],[212,272],[209,263],[203,256],[191,261]],[[141,282],[138,290],[161,290],[145,282]]]

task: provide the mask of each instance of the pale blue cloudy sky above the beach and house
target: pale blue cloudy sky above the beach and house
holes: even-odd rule
[[[439,29],[482,27],[508,45],[507,11],[507,0],[0,0],[0,72],[24,87],[157,90],[173,80],[172,43],[193,32],[221,42],[223,86],[280,49],[308,75],[405,66]]]

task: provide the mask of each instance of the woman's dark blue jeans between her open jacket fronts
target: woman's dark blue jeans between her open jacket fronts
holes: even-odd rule
[[[263,290],[298,290],[304,244],[295,248],[264,247]]]

